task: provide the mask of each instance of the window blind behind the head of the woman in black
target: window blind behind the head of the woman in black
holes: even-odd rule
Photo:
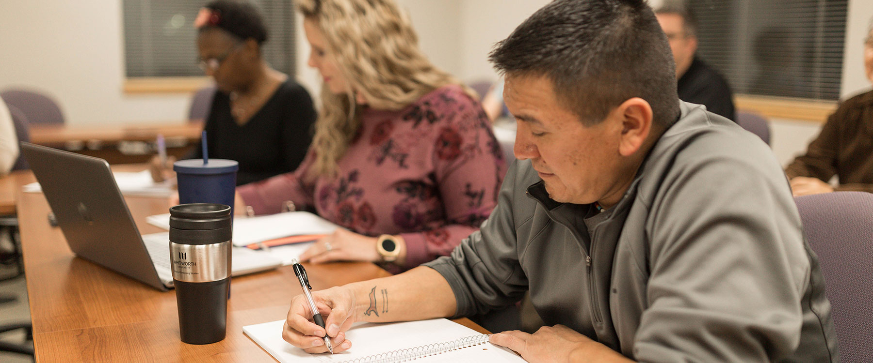
[[[197,65],[194,19],[208,1],[124,0],[127,77],[203,76]],[[294,6],[285,0],[251,1],[265,19],[263,56],[274,69],[293,77]]]

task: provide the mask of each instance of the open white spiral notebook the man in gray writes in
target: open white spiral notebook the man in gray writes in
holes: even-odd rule
[[[282,339],[285,320],[243,326],[243,332],[282,363],[524,362],[512,351],[448,319],[400,323],[357,323],[346,333],[343,353],[310,354]]]

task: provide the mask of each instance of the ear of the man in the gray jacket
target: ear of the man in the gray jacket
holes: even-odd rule
[[[633,97],[614,110],[615,117],[622,120],[622,134],[618,151],[629,157],[639,151],[649,138],[652,129],[652,107],[643,98]]]

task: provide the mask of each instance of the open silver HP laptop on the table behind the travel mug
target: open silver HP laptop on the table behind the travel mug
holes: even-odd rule
[[[140,234],[106,160],[20,145],[73,253],[148,286],[163,291],[173,287],[169,233]],[[282,265],[266,253],[233,247],[230,274]]]

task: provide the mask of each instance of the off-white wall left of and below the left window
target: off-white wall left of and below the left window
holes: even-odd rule
[[[119,0],[0,1],[0,89],[27,85],[58,100],[69,124],[179,120],[188,95],[122,90]]]

